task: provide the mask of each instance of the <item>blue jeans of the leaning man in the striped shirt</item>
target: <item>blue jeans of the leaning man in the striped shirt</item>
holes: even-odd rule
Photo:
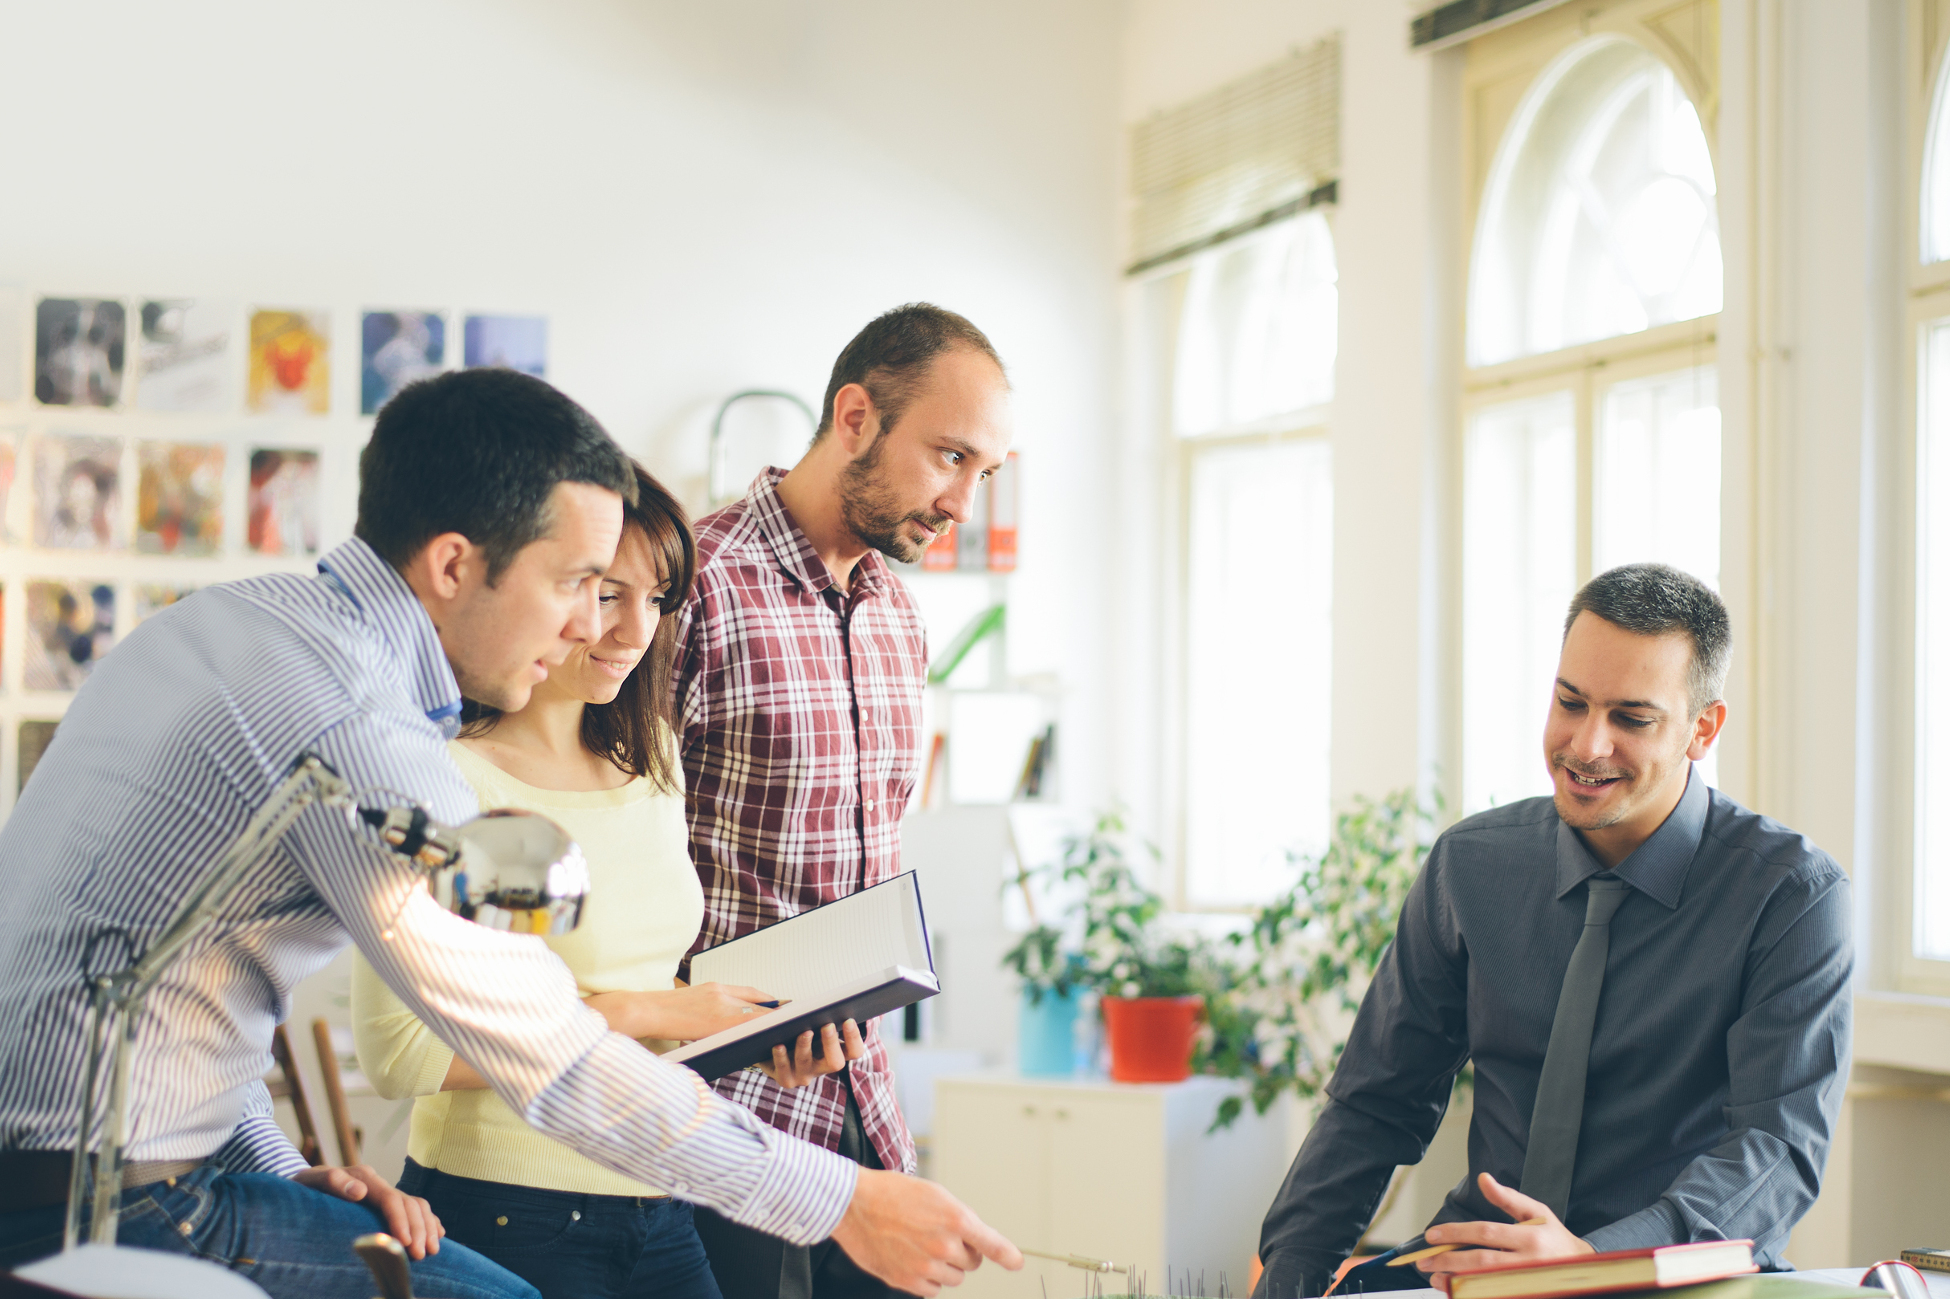
[[[0,1213],[0,1272],[60,1250],[66,1209]],[[376,1209],[267,1172],[203,1164],[123,1194],[119,1244],[222,1264],[271,1299],[372,1299],[372,1274],[353,1239],[386,1231]],[[413,1264],[413,1293],[443,1299],[538,1299],[534,1287],[464,1244]]]

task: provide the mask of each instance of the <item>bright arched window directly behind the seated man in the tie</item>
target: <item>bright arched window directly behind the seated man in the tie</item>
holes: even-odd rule
[[[1482,174],[1470,256],[1464,811],[1550,792],[1542,726],[1581,581],[1638,560],[1720,581],[1706,129],[1673,66],[1620,31],[1539,62]]]

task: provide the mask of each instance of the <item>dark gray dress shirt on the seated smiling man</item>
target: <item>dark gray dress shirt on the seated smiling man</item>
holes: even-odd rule
[[[1509,1221],[1564,967],[1605,866],[1533,798],[1457,823],[1410,889],[1328,1102],[1260,1235],[1264,1299],[1320,1293],[1464,1061],[1470,1172],[1433,1221]],[[1615,874],[1566,1225],[1599,1250],[1751,1237],[1763,1268],[1815,1201],[1849,1067],[1849,880],[1696,776]]]

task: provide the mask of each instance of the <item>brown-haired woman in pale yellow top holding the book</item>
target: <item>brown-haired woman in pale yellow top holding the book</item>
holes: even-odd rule
[[[562,938],[536,938],[573,971],[587,1004],[647,1047],[704,1038],[753,1014],[751,987],[677,983],[704,919],[690,864],[684,772],[671,728],[677,609],[696,571],[682,507],[638,468],[616,560],[603,575],[603,638],[548,671],[521,712],[468,704],[450,745],[482,807],[526,807],[569,831],[589,862],[591,907]],[[353,967],[359,1063],[382,1096],[415,1096],[400,1188],[447,1235],[530,1281],[544,1299],[720,1299],[690,1205],[538,1131],[421,1024],[363,960]],[[803,1034],[772,1073],[800,1086],[864,1051],[829,1026]]]

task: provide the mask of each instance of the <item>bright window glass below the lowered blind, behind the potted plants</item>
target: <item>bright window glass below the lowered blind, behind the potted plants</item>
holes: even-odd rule
[[[1328,831],[1334,234],[1324,213],[1301,213],[1147,291],[1176,302],[1182,903],[1240,907]]]

